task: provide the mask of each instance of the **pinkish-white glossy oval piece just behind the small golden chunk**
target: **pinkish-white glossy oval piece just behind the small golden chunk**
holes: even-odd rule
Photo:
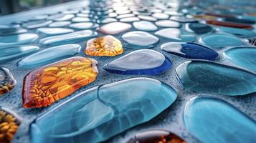
[[[105,24],[103,26],[100,26],[99,31],[103,34],[119,34],[123,31],[127,31],[128,29],[131,29],[131,24],[126,24],[123,22],[111,22],[109,24]]]

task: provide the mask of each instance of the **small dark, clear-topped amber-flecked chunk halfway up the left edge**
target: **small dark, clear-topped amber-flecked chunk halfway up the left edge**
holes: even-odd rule
[[[5,67],[0,67],[0,95],[9,92],[14,88],[15,84],[16,80],[12,76],[11,71]]]

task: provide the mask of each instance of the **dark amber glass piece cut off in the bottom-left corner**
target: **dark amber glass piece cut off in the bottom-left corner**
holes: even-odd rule
[[[21,119],[9,109],[0,107],[0,142],[10,143],[14,137]]]

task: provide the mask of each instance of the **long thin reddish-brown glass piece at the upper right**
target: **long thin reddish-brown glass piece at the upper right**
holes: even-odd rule
[[[240,29],[252,29],[253,27],[248,24],[235,24],[232,22],[226,22],[226,21],[215,21],[215,20],[207,20],[207,24],[217,25],[217,26],[228,26],[228,27],[234,27],[234,28],[240,28]]]

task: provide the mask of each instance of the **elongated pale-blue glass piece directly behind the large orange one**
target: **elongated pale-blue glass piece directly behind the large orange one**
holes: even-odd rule
[[[44,49],[20,60],[17,65],[22,69],[33,69],[78,54],[79,44],[66,44]]]

